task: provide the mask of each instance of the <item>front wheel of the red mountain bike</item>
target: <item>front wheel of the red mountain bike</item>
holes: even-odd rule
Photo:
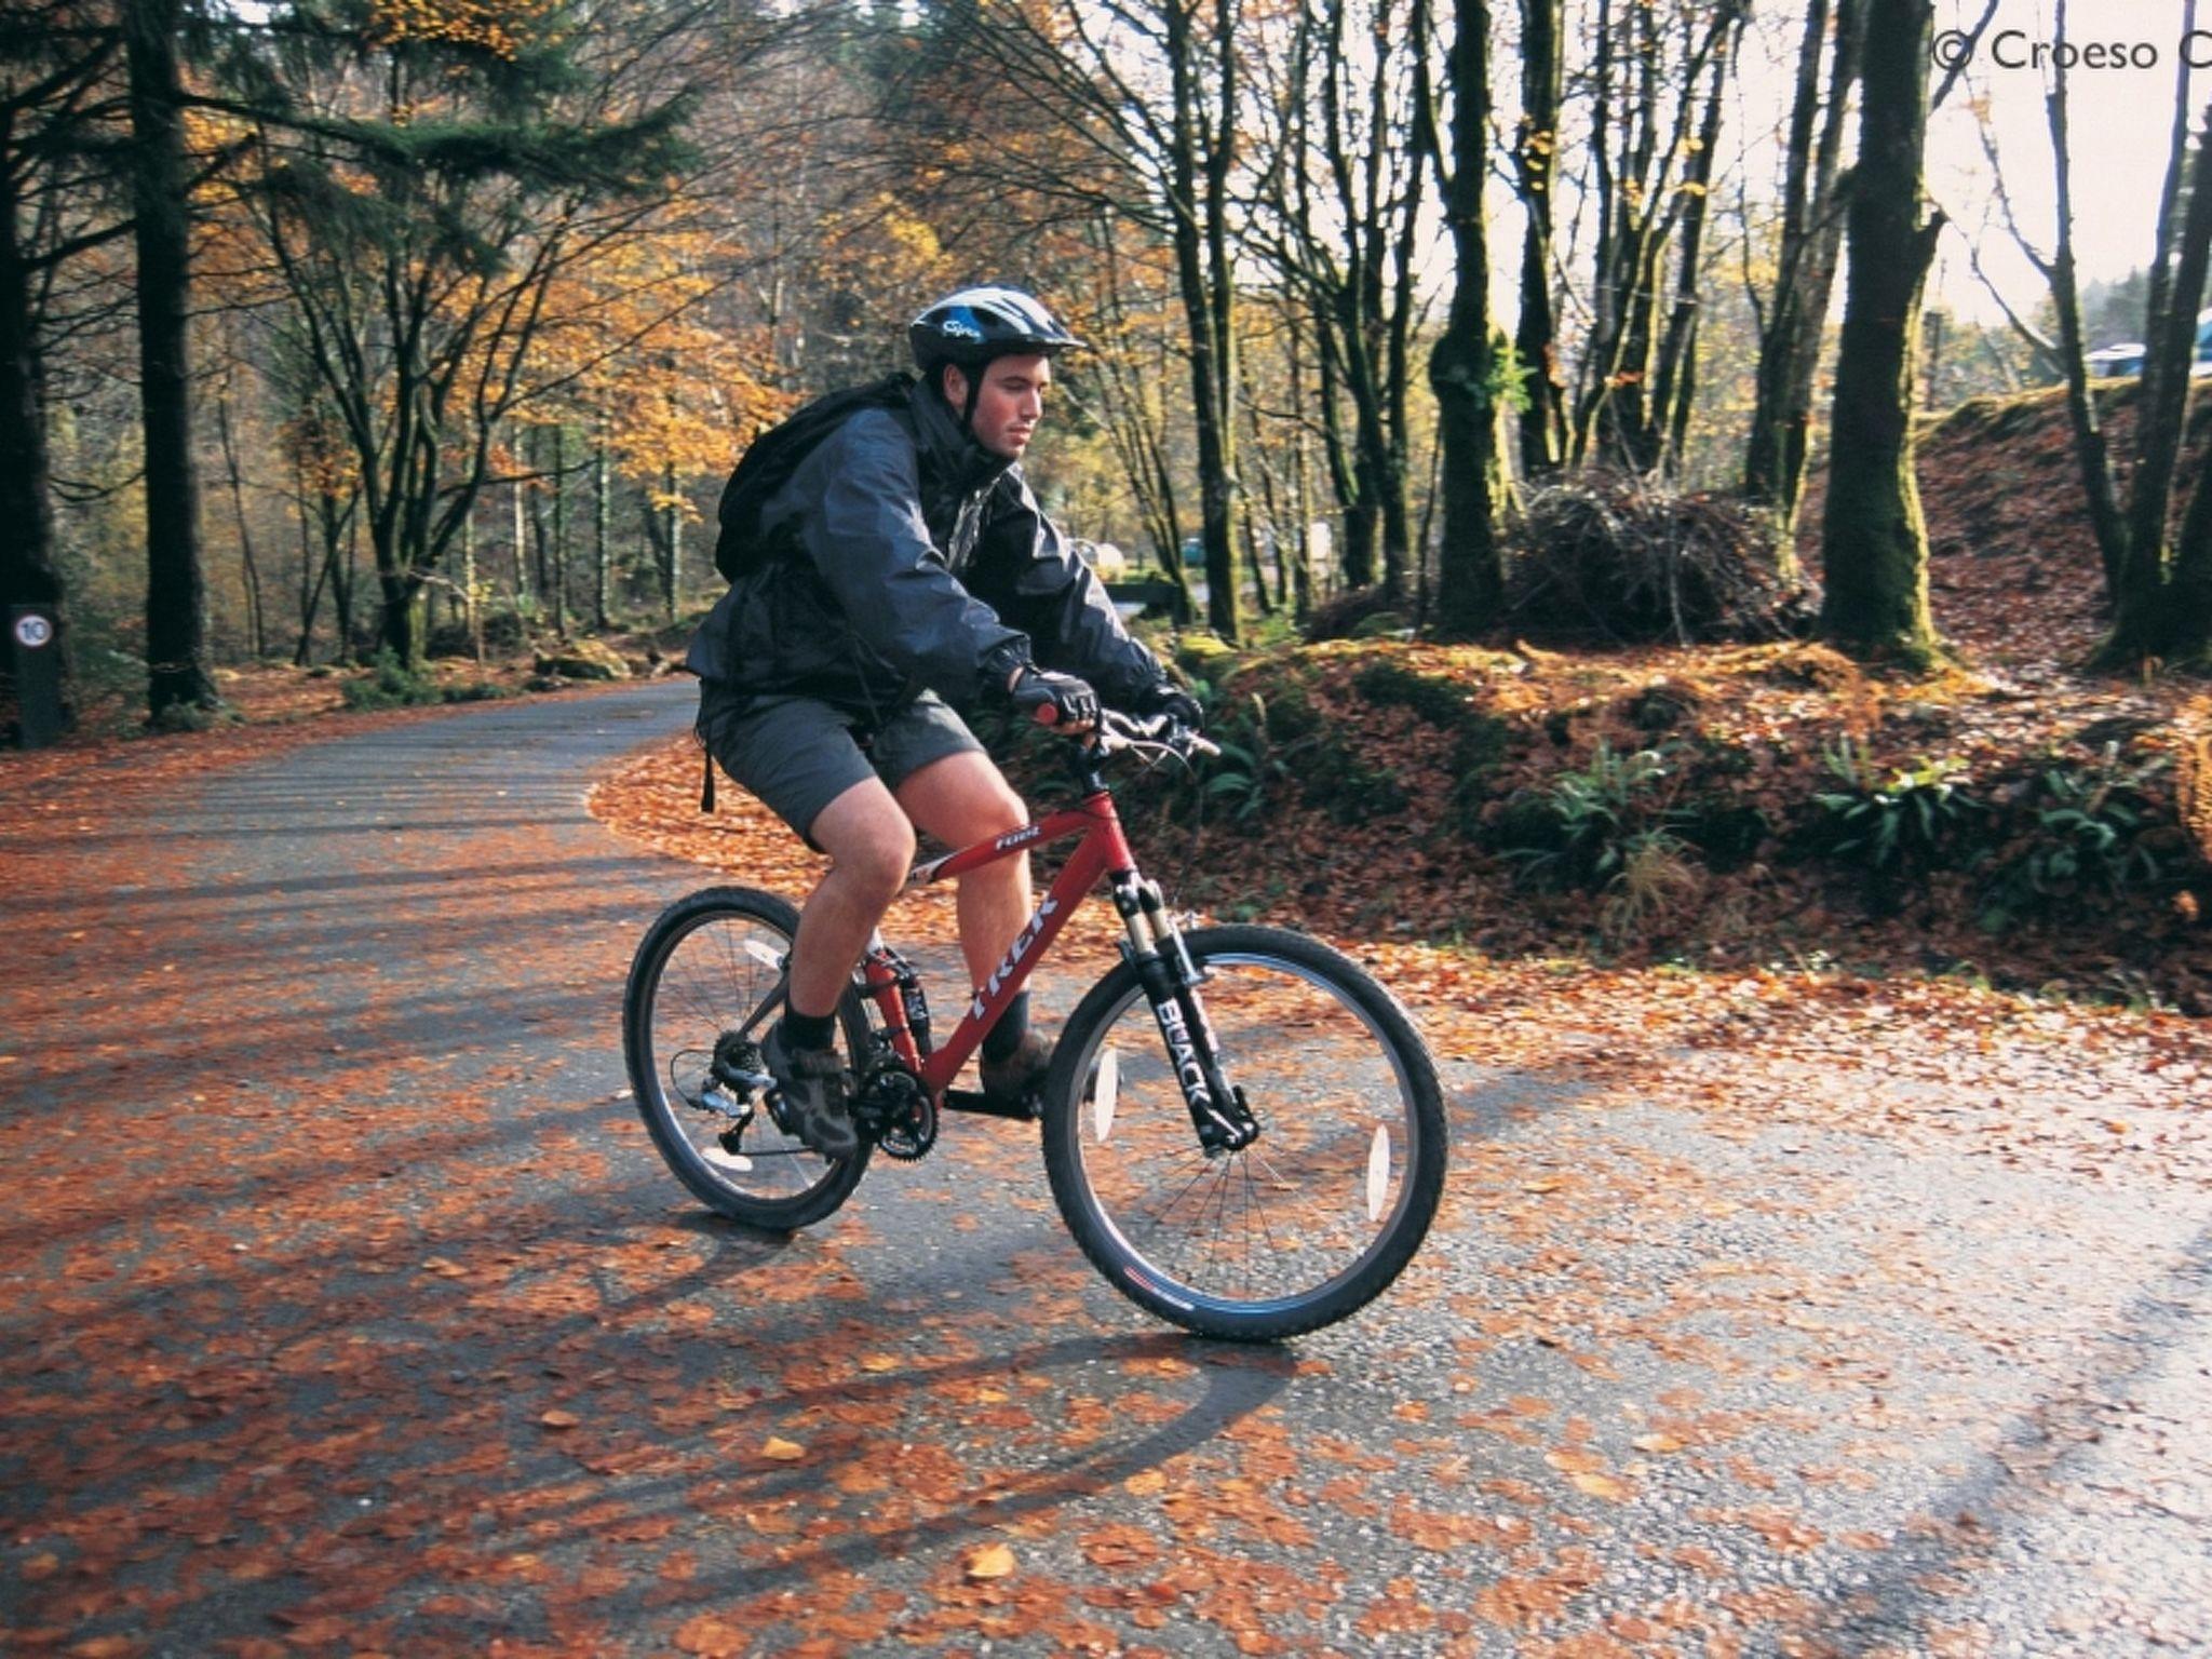
[[[1186,1329],[1272,1340],[1332,1325],[1398,1279],[1436,1214],[1436,1066],[1389,991],[1318,940],[1212,927],[1183,942],[1259,1139],[1206,1152],[1124,962],[1068,1018],[1046,1079],[1060,1214],[1115,1290]]]

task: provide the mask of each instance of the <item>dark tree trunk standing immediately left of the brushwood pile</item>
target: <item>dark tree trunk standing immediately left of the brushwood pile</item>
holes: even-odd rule
[[[1475,635],[1498,619],[1504,564],[1498,549],[1498,358],[1491,338],[1491,250],[1482,181],[1491,119],[1491,7],[1460,0],[1451,42],[1451,168],[1444,223],[1458,254],[1451,312],[1429,356],[1444,440],[1444,542],[1438,551],[1438,624]]]

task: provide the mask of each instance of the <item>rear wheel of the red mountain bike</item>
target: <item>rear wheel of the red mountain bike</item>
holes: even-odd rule
[[[622,998],[622,1055],[630,1095],[661,1159],[710,1210],[787,1232],[832,1214],[867,1170],[860,1141],[849,1159],[823,1159],[783,1135],[754,1104],[739,1146],[721,1130],[737,1119],[703,1104],[714,1046],[761,1006],[781,980],[799,909],[752,887],[706,887],[655,918],[630,960]],[[765,1015],[759,1035],[768,1035]],[[867,1053],[860,998],[838,1004],[845,1062]],[[757,1066],[754,1066],[757,1068]],[[743,1137],[759,1135],[752,1150]]]

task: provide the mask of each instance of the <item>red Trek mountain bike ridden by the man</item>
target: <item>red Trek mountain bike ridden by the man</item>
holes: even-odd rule
[[[1436,1066],[1396,998],[1340,951],[1276,927],[1177,927],[1102,768],[1194,748],[1210,745],[1108,712],[1077,752],[1075,805],[916,865],[909,885],[1075,838],[942,1042],[914,967],[880,933],[869,945],[838,1009],[860,1126],[849,1159],[785,1130],[761,1064],[799,911],[750,887],[670,905],[630,964],[622,1035],[637,1110],[684,1186],[734,1221],[803,1228],[852,1194],[874,1150],[925,1157],[942,1113],[1040,1117],[1068,1230],[1152,1314],[1267,1340],[1374,1301],[1444,1188]],[[953,1088],[1102,876],[1128,929],[1121,962],[1068,1015],[1042,1093],[1006,1106]]]

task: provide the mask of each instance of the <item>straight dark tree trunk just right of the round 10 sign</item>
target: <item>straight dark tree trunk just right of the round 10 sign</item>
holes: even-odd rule
[[[192,270],[184,179],[179,0],[126,0],[139,414],[146,431],[146,712],[215,708],[192,469]]]

